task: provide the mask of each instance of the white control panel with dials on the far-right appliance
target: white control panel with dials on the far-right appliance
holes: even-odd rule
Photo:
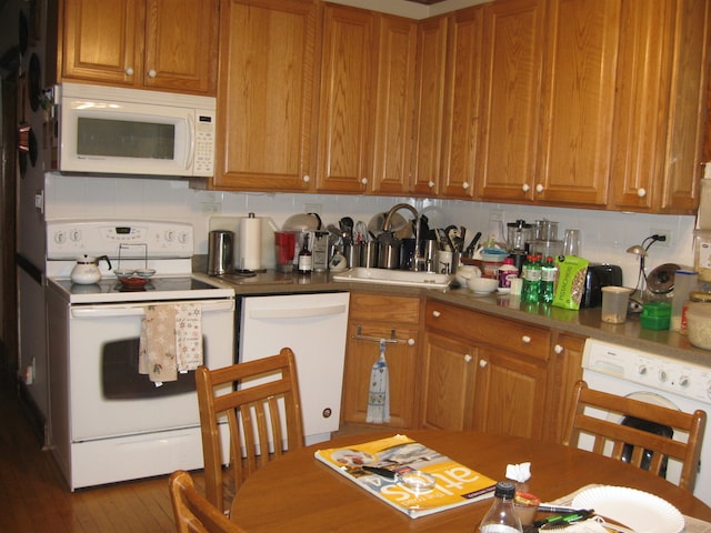
[[[711,366],[588,339],[582,358],[587,371],[711,404]]]

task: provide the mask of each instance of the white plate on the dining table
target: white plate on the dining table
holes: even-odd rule
[[[578,494],[575,509],[594,509],[640,533],[680,533],[684,519],[671,503],[647,492],[625,486],[595,486]]]

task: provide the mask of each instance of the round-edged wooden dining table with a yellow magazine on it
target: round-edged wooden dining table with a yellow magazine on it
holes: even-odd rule
[[[639,489],[682,514],[711,521],[711,507],[677,485],[635,466],[550,442],[477,432],[408,430],[402,434],[494,480],[508,464],[531,462],[529,492],[552,502],[590,484]],[[411,519],[314,459],[317,450],[354,445],[395,432],[350,435],[289,452],[239,490],[231,520],[250,533],[473,533],[490,500]],[[641,533],[641,532],[640,532]]]

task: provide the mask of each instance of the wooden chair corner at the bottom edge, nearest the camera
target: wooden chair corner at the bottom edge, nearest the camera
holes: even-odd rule
[[[246,533],[198,492],[188,472],[173,472],[168,486],[178,533]]]

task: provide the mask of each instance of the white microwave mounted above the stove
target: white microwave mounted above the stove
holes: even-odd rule
[[[49,170],[213,175],[214,98],[80,83],[54,86],[47,97]]]

